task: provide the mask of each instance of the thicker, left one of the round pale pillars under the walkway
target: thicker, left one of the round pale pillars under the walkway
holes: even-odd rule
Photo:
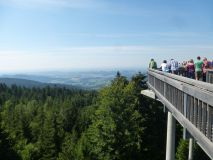
[[[168,111],[166,160],[175,160],[175,118]]]

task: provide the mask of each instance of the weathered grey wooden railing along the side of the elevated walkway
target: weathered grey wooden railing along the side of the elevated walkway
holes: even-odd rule
[[[150,69],[148,86],[213,159],[213,84]]]

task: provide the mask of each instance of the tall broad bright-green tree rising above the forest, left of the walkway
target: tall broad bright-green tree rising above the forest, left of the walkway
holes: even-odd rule
[[[135,87],[118,72],[112,85],[102,89],[92,124],[82,135],[84,158],[132,159],[140,154],[144,119]]]

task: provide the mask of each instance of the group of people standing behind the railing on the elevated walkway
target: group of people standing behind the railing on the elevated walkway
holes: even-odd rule
[[[169,62],[163,60],[158,68],[155,60],[151,59],[149,68],[206,82],[206,72],[207,69],[213,69],[213,60],[208,61],[206,57],[201,59],[200,56],[197,57],[195,62],[193,59],[182,63],[178,63],[175,59],[171,59]]]

